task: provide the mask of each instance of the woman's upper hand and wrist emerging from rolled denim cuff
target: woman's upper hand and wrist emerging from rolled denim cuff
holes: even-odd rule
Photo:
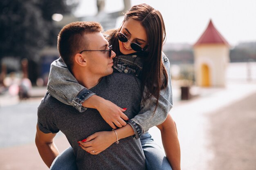
[[[125,108],[120,108],[116,104],[97,95],[93,95],[89,99],[85,100],[85,102],[83,102],[83,106],[97,109],[101,114],[101,117],[113,129],[125,126],[126,122],[124,120],[129,120],[128,117],[123,113],[126,110]]]

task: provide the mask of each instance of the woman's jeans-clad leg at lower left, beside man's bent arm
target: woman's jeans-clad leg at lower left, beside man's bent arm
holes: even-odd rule
[[[49,170],[78,170],[72,147],[61,152],[60,155],[54,159]]]

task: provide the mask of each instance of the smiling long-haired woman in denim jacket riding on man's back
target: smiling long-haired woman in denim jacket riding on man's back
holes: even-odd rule
[[[180,169],[179,142],[174,121],[168,115],[172,108],[171,77],[169,61],[162,53],[165,26],[161,13],[147,4],[135,5],[126,13],[121,27],[107,31],[106,36],[113,46],[113,51],[117,53],[114,58],[114,71],[130,73],[141,80],[143,97],[141,111],[137,116],[128,120],[123,113],[125,108],[119,108],[77,82],[70,81],[72,74],[64,73],[63,69],[56,65],[51,66],[47,90],[53,97],[81,112],[86,108],[96,108],[113,129],[119,127],[116,134],[97,132],[78,141],[81,148],[90,154],[99,154],[115,141],[134,135],[136,139],[141,140],[148,170],[167,170],[171,169],[171,166],[173,170]],[[59,59],[58,62],[63,61]],[[124,120],[127,120],[129,125],[126,125]],[[161,131],[168,160],[147,133],[153,126],[157,126]],[[63,166],[63,163],[65,167],[71,166],[67,169],[75,169],[75,165],[71,164],[72,160],[75,158],[72,148],[69,148],[55,159],[52,170],[61,169],[58,167]],[[66,165],[68,163],[70,164]]]

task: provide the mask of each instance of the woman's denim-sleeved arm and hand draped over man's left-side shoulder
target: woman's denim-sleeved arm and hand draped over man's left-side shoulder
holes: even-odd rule
[[[72,105],[79,112],[87,108],[96,108],[103,119],[114,129],[116,126],[126,125],[124,120],[128,120],[128,117],[123,113],[125,109],[95,95],[79,84],[61,57],[51,64],[47,90],[54,98],[64,104]]]

